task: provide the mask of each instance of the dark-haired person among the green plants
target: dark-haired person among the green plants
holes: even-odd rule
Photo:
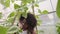
[[[20,28],[23,31],[27,31],[27,34],[36,34],[34,28],[37,25],[37,20],[33,14],[27,13],[27,18],[21,15],[19,22]]]

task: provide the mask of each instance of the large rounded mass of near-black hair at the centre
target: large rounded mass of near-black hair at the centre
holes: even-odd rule
[[[35,16],[31,13],[27,14],[26,21],[27,21],[27,25],[30,29],[34,28],[37,24],[37,20],[36,20]]]

